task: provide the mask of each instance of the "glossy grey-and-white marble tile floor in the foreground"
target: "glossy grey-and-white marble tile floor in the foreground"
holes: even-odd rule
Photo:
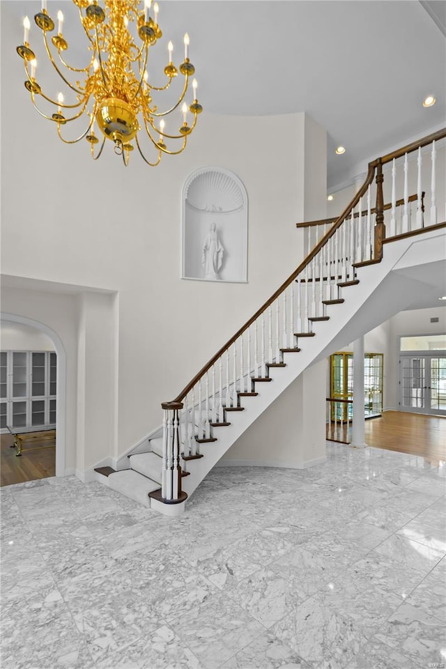
[[[75,477],[1,489],[1,669],[446,666],[446,465],[330,444],[215,468],[180,518]]]

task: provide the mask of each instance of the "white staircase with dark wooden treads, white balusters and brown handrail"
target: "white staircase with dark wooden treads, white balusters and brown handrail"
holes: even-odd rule
[[[426,140],[420,146],[428,146]],[[402,150],[401,157],[407,162],[406,153]],[[435,161],[435,142],[432,155]],[[435,186],[431,224],[422,221],[420,227],[419,160],[420,197],[413,227],[410,217],[403,216],[401,221],[410,229],[398,230],[393,183],[389,224],[394,234],[385,238],[380,160],[370,164],[367,180],[349,208],[288,281],[176,400],[163,404],[163,427],[148,440],[146,452],[130,453],[108,476],[98,473],[103,482],[147,507],[177,515],[227,449],[302,371],[406,308],[417,291],[423,291],[424,282],[411,281],[403,270],[445,262],[446,224],[437,221]],[[392,169],[393,179],[394,173]],[[408,212],[406,183],[403,206]]]

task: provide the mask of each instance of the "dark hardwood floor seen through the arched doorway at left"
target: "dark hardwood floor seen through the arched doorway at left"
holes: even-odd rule
[[[0,486],[45,479],[56,474],[56,440],[49,440],[47,432],[32,432],[36,436],[24,439],[22,455],[15,454],[13,436],[0,435]]]

